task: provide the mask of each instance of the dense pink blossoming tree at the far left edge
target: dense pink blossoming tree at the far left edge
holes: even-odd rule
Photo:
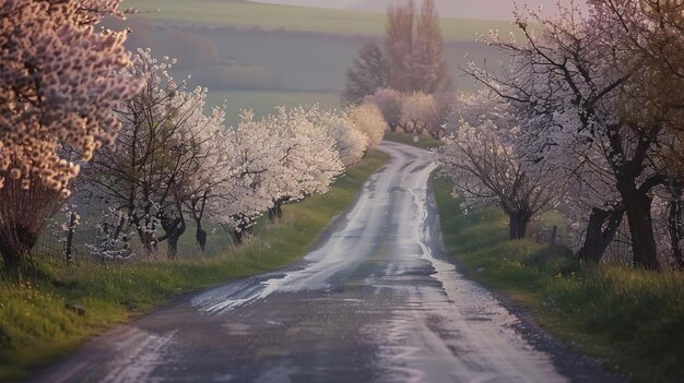
[[[0,4],[0,253],[26,260],[70,194],[79,163],[114,141],[111,108],[135,93],[126,32],[96,31],[120,0],[5,0]],[[74,154],[75,153],[75,154]]]

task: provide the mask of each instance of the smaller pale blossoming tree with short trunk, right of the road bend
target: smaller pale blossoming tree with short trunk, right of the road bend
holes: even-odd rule
[[[522,239],[532,217],[557,199],[547,172],[526,169],[508,137],[516,133],[506,105],[487,93],[462,96],[449,117],[453,133],[444,139],[436,159],[453,181],[464,208],[498,204],[509,217],[510,239]]]

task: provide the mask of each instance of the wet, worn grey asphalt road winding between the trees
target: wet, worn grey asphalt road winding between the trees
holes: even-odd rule
[[[428,154],[380,149],[391,163],[304,262],[179,299],[34,381],[621,381],[459,273],[440,250]]]

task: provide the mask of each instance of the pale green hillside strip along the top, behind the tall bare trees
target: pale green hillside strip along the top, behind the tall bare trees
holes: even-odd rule
[[[141,11],[141,17],[176,23],[214,24],[264,29],[322,32],[341,35],[381,36],[382,13],[330,10],[241,1],[217,0],[127,0],[122,7]],[[160,12],[150,12],[156,11]],[[476,34],[514,31],[511,23],[468,19],[443,19],[446,40],[472,40]]]

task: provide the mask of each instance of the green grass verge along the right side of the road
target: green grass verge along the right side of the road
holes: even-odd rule
[[[447,250],[470,275],[635,382],[684,381],[684,274],[590,267],[562,248],[510,241],[499,208],[465,216],[451,183],[435,179],[434,187]],[[557,223],[550,215],[535,226]]]

